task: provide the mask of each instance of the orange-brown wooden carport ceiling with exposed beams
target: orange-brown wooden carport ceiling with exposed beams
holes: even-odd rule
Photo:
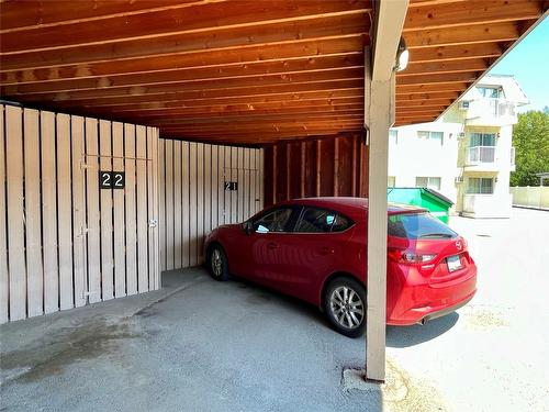
[[[3,1],[3,99],[264,144],[360,131],[369,0]],[[547,7],[411,1],[396,122],[436,119]]]

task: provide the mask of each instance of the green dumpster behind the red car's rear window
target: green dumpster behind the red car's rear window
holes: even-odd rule
[[[386,199],[393,203],[425,208],[446,224],[448,224],[449,211],[453,204],[446,196],[427,188],[388,188]]]

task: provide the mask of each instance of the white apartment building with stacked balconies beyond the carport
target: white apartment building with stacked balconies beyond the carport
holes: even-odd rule
[[[389,187],[428,187],[453,213],[508,218],[516,107],[528,99],[513,76],[484,76],[438,121],[391,130]]]

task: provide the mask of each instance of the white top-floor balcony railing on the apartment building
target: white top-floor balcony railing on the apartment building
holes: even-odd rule
[[[473,126],[503,126],[515,124],[515,103],[505,99],[473,100],[466,113],[467,124]]]

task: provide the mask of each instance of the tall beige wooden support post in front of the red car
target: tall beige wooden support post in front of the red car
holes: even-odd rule
[[[386,176],[394,123],[394,66],[407,0],[376,3],[373,49],[365,53],[365,124],[369,130],[366,378],[385,379]]]

